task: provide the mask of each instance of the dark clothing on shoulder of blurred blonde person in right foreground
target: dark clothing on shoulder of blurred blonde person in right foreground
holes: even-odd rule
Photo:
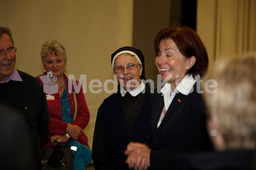
[[[256,170],[256,150],[189,153],[175,156],[169,164],[172,170]]]

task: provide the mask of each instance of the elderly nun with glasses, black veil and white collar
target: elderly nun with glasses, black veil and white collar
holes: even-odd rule
[[[118,91],[98,109],[93,136],[95,170],[127,170],[125,149],[130,142],[145,142],[151,115],[150,87],[145,80],[142,52],[122,47],[111,55]]]

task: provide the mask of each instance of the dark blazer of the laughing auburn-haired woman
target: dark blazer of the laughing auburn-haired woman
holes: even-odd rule
[[[162,94],[154,94],[150,135],[146,144],[152,150],[151,170],[165,168],[177,153],[210,150],[205,122],[205,104],[196,91],[196,83],[188,95],[175,95],[161,125],[157,123],[164,107]]]

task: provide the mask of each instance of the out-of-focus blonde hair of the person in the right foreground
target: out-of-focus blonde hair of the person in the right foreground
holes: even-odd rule
[[[256,147],[256,54],[239,57],[217,62],[208,71],[206,80],[214,79],[218,86],[204,97],[226,147],[250,149]]]

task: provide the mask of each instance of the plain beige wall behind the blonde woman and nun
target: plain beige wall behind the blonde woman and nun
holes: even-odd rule
[[[91,147],[97,110],[110,94],[103,87],[101,93],[93,94],[88,85],[92,79],[102,83],[113,79],[111,54],[132,45],[133,1],[1,0],[0,6],[0,25],[13,33],[17,69],[32,76],[42,74],[41,45],[56,39],[67,50],[66,74],[74,74],[76,79],[86,74],[85,99],[91,117],[84,131]]]

